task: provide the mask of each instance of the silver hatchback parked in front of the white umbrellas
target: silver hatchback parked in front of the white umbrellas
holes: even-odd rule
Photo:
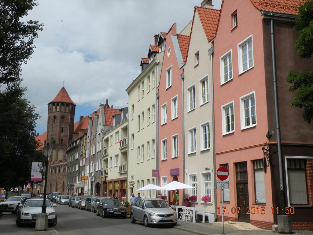
[[[137,199],[131,207],[131,223],[136,220],[144,222],[148,227],[151,224],[177,224],[177,212],[163,199],[141,198]]]

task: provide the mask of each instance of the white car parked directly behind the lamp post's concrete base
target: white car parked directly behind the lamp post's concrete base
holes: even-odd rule
[[[20,212],[16,218],[16,225],[21,227],[23,224],[35,224],[37,219],[37,214],[41,213],[41,206],[44,203],[43,198],[29,198],[26,200],[24,205],[20,205]],[[48,225],[55,226],[57,224],[58,218],[53,207],[56,204],[51,205],[49,200],[46,200],[46,213],[48,214]]]

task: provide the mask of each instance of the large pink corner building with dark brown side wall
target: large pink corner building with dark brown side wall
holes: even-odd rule
[[[289,107],[293,94],[285,81],[289,69],[302,71],[312,65],[312,60],[300,63],[296,59],[292,21],[299,2],[303,1],[222,3],[213,39],[213,88],[216,167],[229,170],[229,190],[224,190],[226,221],[250,222],[271,229],[277,224],[277,216],[286,213],[293,229],[313,227],[312,127],[303,121],[299,108]],[[276,44],[271,41],[273,32]],[[278,84],[279,132],[274,75]],[[272,135],[269,140],[265,136],[268,131]],[[264,158],[264,148],[270,149],[264,151],[268,159]],[[217,190],[216,202],[221,221],[221,190]],[[295,212],[291,214],[290,210]]]

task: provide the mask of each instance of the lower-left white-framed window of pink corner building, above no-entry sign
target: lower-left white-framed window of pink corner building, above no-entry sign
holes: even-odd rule
[[[235,131],[234,103],[229,102],[222,106],[223,135]]]

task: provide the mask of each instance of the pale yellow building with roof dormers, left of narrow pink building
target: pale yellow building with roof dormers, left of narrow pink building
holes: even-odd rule
[[[160,48],[157,45],[150,45],[148,58],[141,60],[141,74],[126,89],[129,99],[128,201],[132,192],[137,196],[138,188],[149,183],[158,184],[157,178],[152,177],[152,169],[157,169],[158,162],[156,155],[156,94],[165,39],[162,37],[161,41]],[[141,197],[156,196],[156,191],[141,191],[140,193]]]

